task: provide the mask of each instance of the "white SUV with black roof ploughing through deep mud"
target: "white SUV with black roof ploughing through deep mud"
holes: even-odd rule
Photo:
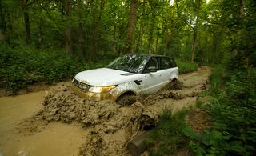
[[[154,94],[178,78],[173,58],[151,54],[128,54],[105,68],[78,73],[72,90],[83,98],[121,101],[130,95]]]

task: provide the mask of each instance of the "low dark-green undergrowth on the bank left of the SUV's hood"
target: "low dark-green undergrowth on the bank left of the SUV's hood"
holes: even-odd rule
[[[0,56],[0,86],[14,92],[36,82],[53,83],[73,78],[78,71],[92,68],[92,64],[80,63],[62,51],[10,48],[0,44]]]

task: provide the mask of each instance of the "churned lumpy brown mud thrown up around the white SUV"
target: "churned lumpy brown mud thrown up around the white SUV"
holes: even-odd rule
[[[194,105],[198,94],[206,90],[209,72],[208,67],[201,67],[196,72],[182,74],[177,84],[167,86],[158,94],[138,97],[131,106],[79,98],[70,90],[70,82],[60,83],[47,92],[43,109],[27,118],[18,129],[21,133],[34,134],[50,122],[78,122],[90,130],[78,155],[129,155],[127,142],[154,127],[163,109],[178,111]],[[200,124],[198,127],[201,130]]]

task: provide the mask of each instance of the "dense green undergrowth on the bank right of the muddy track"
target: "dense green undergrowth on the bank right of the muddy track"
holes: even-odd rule
[[[153,155],[177,155],[189,146],[195,155],[256,154],[256,70],[240,68],[226,71],[216,67],[210,74],[211,98],[202,104],[210,118],[210,128],[198,134],[186,126],[184,111],[164,111],[150,143]]]

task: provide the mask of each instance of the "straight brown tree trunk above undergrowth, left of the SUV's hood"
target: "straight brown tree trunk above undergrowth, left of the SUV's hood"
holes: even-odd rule
[[[66,11],[66,42],[65,42],[65,51],[67,54],[72,54],[72,38],[71,38],[71,2],[70,0],[64,0],[63,5]]]

